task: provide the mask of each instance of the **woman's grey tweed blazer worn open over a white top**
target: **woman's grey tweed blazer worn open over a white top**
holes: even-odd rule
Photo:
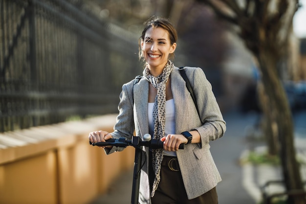
[[[188,144],[183,150],[176,151],[188,199],[193,199],[211,190],[221,181],[209,150],[209,141],[223,136],[226,126],[212,86],[206,79],[203,70],[186,67],[186,74],[197,98],[200,117],[178,68],[175,67],[170,77],[175,101],[175,134],[197,130],[201,136],[201,143]],[[114,132],[111,133],[114,138],[127,137],[131,139],[134,130],[136,135],[140,137],[149,133],[148,94],[149,81],[145,77],[142,77],[135,85],[132,80],[122,86],[118,106],[119,114]],[[110,154],[122,150],[123,148],[113,147],[110,150],[106,149],[106,153]],[[147,148],[144,148],[144,151],[147,152],[148,161],[149,151]],[[148,163],[146,163],[141,170],[140,204],[151,203],[148,168]]]

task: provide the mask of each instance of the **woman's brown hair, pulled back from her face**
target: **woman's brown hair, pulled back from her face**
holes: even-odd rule
[[[144,26],[145,26],[145,28],[143,29],[142,34],[141,34],[141,36],[139,38],[139,41],[138,41],[139,60],[141,60],[143,58],[143,61],[144,61],[144,57],[143,57],[142,50],[141,50],[141,41],[144,40],[146,32],[149,28],[151,28],[151,27],[164,28],[169,33],[169,38],[170,38],[171,45],[173,45],[177,41],[177,32],[176,32],[174,26],[172,25],[172,23],[170,23],[170,21],[168,19],[152,16],[148,21],[146,21],[144,23]],[[170,60],[173,60],[174,59],[174,53],[170,53],[169,58],[170,58]]]

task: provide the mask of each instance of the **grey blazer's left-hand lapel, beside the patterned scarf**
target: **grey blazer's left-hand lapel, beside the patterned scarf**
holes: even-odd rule
[[[149,82],[142,78],[134,85],[134,114],[137,115],[137,122],[140,128],[140,133],[149,133],[148,121],[148,97],[149,97]],[[136,113],[135,113],[136,112]],[[137,124],[135,124],[137,126]]]

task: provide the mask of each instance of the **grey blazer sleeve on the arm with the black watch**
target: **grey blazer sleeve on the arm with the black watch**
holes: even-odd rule
[[[199,117],[202,126],[195,128],[201,136],[202,147],[210,140],[223,136],[226,123],[221,114],[212,86],[201,68],[194,68],[192,76],[188,77],[196,95]]]

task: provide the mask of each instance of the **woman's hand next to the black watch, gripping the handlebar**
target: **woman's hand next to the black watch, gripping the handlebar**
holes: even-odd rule
[[[183,135],[167,135],[160,139],[164,142],[164,150],[177,151],[180,144],[186,144],[188,139]]]

